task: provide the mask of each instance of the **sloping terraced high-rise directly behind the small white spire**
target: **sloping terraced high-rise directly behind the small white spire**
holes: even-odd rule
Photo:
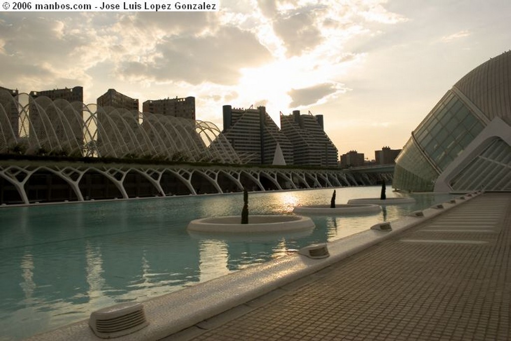
[[[222,134],[245,162],[272,164],[278,144],[285,163],[293,164],[291,143],[264,106],[242,109],[224,105]]]

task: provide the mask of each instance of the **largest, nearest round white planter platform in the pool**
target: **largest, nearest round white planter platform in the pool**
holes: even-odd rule
[[[309,217],[292,215],[251,215],[248,224],[241,223],[241,216],[225,216],[192,220],[188,231],[213,233],[269,233],[314,229]]]

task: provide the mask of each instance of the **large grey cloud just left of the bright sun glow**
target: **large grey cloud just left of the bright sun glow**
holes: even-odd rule
[[[167,37],[159,42],[152,62],[122,63],[119,72],[157,81],[235,84],[240,68],[271,60],[270,52],[252,33],[223,27],[208,36]]]

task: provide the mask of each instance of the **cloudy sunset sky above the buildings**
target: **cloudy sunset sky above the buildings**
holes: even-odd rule
[[[218,12],[0,12],[0,86],[324,116],[339,151],[401,149],[461,77],[511,49],[508,0],[219,0]]]

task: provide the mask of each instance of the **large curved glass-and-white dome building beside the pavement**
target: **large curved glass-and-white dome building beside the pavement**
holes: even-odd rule
[[[396,158],[392,187],[511,191],[511,51],[447,91]]]

